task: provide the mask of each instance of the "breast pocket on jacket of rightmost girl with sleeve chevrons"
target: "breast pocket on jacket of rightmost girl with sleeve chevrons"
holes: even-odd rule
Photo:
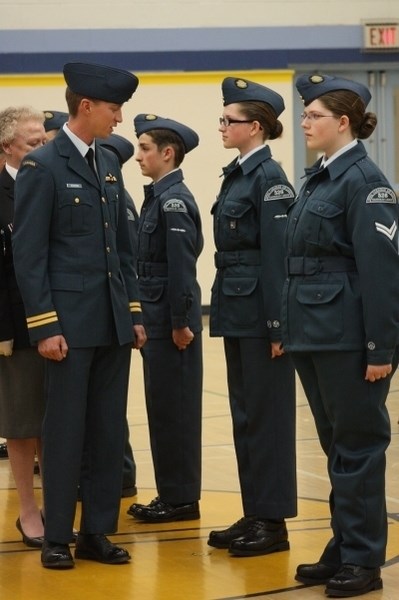
[[[313,246],[329,246],[342,231],[342,206],[323,200],[313,201],[306,206],[305,240]],[[342,235],[342,233],[340,233]]]

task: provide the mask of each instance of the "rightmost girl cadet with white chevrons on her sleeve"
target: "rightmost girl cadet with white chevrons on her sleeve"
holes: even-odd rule
[[[359,141],[376,126],[369,90],[339,77],[296,83],[311,149],[287,225],[284,346],[291,351],[328,457],[333,537],[306,584],[348,597],[382,587],[385,560],[385,406],[398,361],[398,202]]]

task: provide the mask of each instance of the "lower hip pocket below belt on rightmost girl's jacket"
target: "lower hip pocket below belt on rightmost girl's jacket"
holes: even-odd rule
[[[303,334],[308,342],[339,342],[344,335],[344,284],[299,285],[296,299],[302,313]],[[299,315],[298,315],[299,316]]]

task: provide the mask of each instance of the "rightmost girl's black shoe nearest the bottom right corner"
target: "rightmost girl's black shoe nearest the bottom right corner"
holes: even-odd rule
[[[366,569],[357,565],[342,565],[327,582],[326,594],[332,598],[361,596],[382,589],[381,569]]]

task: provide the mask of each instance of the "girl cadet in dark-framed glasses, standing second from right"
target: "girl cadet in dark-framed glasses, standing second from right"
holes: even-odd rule
[[[295,376],[281,347],[286,210],[294,199],[271,157],[282,133],[282,97],[227,77],[220,129],[240,152],[225,169],[212,208],[217,252],[210,334],[223,336],[244,516],[208,544],[238,556],[289,548],[286,517],[296,515]]]

